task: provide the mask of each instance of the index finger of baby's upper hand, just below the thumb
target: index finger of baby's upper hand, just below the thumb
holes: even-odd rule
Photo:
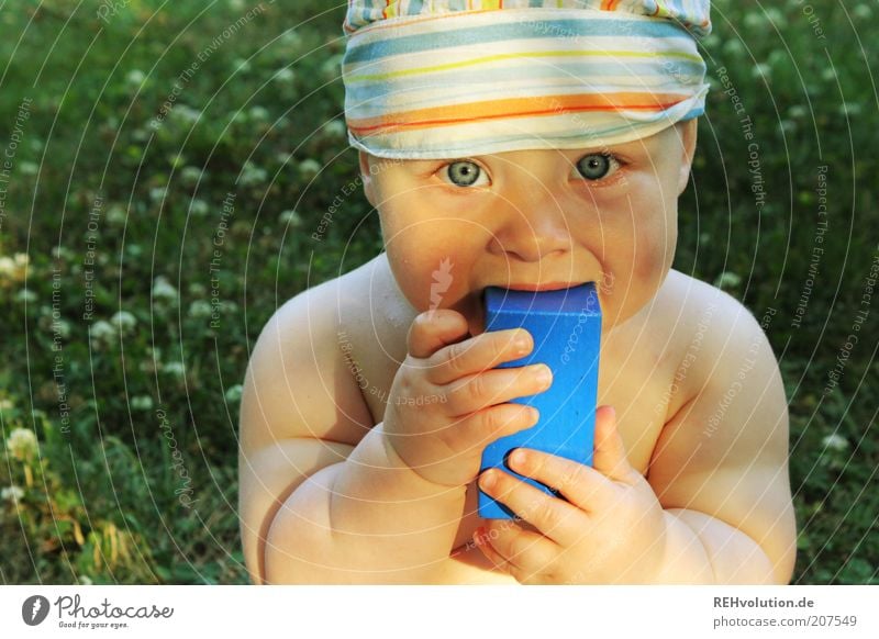
[[[434,384],[447,384],[465,375],[496,368],[504,361],[525,357],[533,348],[534,339],[524,328],[481,333],[438,349],[427,362],[427,379]]]

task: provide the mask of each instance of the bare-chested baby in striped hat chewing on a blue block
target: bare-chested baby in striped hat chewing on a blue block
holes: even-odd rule
[[[708,90],[708,0],[351,0],[346,117],[386,250],[286,303],[249,365],[255,583],[789,582],[778,365],[734,299],[671,269]],[[596,282],[593,466],[482,450],[544,365],[485,330],[489,285]],[[561,408],[564,410],[564,407]],[[516,514],[481,519],[478,491]]]

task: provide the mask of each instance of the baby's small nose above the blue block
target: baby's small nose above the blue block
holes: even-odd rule
[[[557,205],[507,206],[494,227],[490,250],[521,261],[539,261],[571,250],[568,221]]]

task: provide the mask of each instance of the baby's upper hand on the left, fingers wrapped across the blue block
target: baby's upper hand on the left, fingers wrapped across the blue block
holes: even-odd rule
[[[524,328],[466,335],[467,321],[456,311],[415,317],[409,356],[385,410],[385,435],[397,455],[424,479],[447,486],[476,478],[486,446],[534,426],[536,408],[508,402],[552,383],[542,363],[494,369],[531,352],[534,343]]]

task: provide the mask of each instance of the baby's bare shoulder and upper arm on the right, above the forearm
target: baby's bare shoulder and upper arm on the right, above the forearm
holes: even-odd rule
[[[769,340],[738,301],[681,273],[659,303],[680,307],[679,399],[654,450],[650,485],[664,507],[748,535],[786,583],[795,553],[788,405]]]

